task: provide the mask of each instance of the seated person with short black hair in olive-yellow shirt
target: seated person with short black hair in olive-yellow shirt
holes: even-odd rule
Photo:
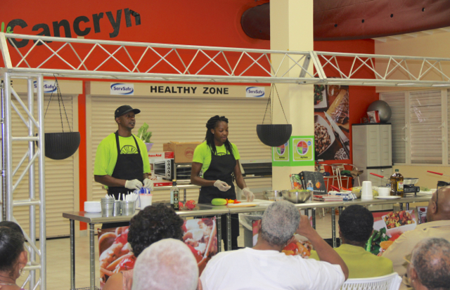
[[[354,204],[345,208],[339,216],[339,235],[342,245],[335,249],[349,268],[349,279],[388,275],[392,261],[366,251],[366,242],[373,233],[373,215],[364,206]],[[311,256],[319,260],[316,251]]]

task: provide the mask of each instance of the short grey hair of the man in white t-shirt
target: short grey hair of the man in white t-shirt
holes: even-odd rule
[[[285,245],[300,223],[300,213],[291,202],[274,202],[262,216],[261,237],[275,245]]]

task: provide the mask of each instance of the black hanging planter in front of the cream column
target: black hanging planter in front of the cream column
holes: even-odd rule
[[[269,107],[269,117],[270,122],[272,122],[273,119],[273,104],[271,103],[271,95],[272,91],[276,91],[276,95],[278,96],[278,100],[281,100],[280,96],[278,95],[278,91],[276,90],[275,84],[272,84],[270,93],[269,93],[269,100],[267,101],[266,105],[266,112],[264,112],[264,118],[262,119],[263,124],[256,125],[256,133],[258,135],[259,140],[261,140],[264,145],[271,146],[271,147],[278,147],[283,145],[284,143],[288,142],[291,134],[293,133],[293,125],[291,124],[264,124],[264,119],[266,118],[267,108]],[[286,119],[286,123],[288,123],[288,119],[286,118],[286,114],[284,113],[283,105],[281,105],[281,109],[283,110],[284,117]]]

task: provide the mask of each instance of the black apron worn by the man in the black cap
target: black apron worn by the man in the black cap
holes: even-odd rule
[[[115,132],[115,143],[117,145],[117,162],[115,163],[114,171],[111,176],[113,178],[124,179],[124,180],[134,180],[137,179],[143,182],[143,161],[141,156],[141,150],[139,149],[138,141],[131,135],[136,143],[137,153],[134,152],[134,148],[132,146],[124,146],[122,150],[132,150],[131,154],[120,154],[120,143],[119,143],[119,133]],[[134,190],[129,190],[126,187],[108,187],[108,194],[114,195],[116,200],[120,199],[120,194],[127,192],[131,192]],[[105,228],[117,228],[127,226],[129,223],[107,223],[103,224]]]

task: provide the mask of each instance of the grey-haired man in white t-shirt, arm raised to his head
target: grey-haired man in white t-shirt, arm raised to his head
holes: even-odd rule
[[[297,233],[307,237],[321,261],[281,253]],[[328,263],[327,263],[328,262]],[[294,204],[274,202],[262,216],[253,248],[218,253],[200,275],[204,290],[210,289],[339,289],[348,269],[307,216]]]

